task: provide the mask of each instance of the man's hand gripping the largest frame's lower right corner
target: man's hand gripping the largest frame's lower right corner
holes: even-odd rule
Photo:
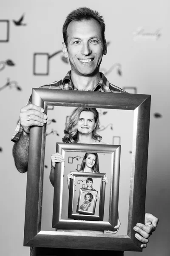
[[[135,237],[141,241],[141,248],[146,248],[148,243],[148,238],[152,235],[152,232],[156,230],[158,224],[158,218],[150,213],[145,213],[144,224],[137,223],[133,229],[138,232]]]

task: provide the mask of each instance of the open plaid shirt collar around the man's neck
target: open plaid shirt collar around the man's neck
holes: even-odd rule
[[[70,74],[71,74],[71,70],[68,71],[68,73],[62,80],[62,89],[64,89],[64,87],[67,84],[69,90],[78,90],[72,83]],[[101,79],[100,79],[99,83],[96,85],[96,87],[94,89],[91,89],[89,91],[111,92],[111,90],[109,88],[110,83],[109,83],[108,79],[101,72],[100,72],[100,76],[101,76]]]

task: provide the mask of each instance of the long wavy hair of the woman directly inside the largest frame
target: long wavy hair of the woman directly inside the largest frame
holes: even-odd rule
[[[64,143],[77,143],[79,140],[77,123],[79,121],[79,116],[82,111],[92,112],[94,113],[94,121],[96,122],[96,127],[92,132],[92,138],[94,140],[102,140],[102,136],[97,134],[97,130],[99,129],[99,112],[96,108],[75,108],[71,113],[68,122],[65,124],[64,133],[65,136],[62,138]]]

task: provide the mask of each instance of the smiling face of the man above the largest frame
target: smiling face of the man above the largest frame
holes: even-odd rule
[[[93,76],[99,72],[102,55],[106,54],[106,41],[102,42],[99,23],[94,20],[72,21],[68,25],[68,47],[63,52],[68,56],[71,72],[79,76]]]

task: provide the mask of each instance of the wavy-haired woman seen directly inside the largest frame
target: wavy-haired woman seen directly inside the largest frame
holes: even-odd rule
[[[102,143],[102,137],[97,134],[99,125],[99,112],[96,108],[75,108],[65,124],[65,136],[62,138],[62,141],[64,143]],[[61,154],[54,153],[51,155],[50,181],[53,186],[55,165],[63,161],[65,159]]]

